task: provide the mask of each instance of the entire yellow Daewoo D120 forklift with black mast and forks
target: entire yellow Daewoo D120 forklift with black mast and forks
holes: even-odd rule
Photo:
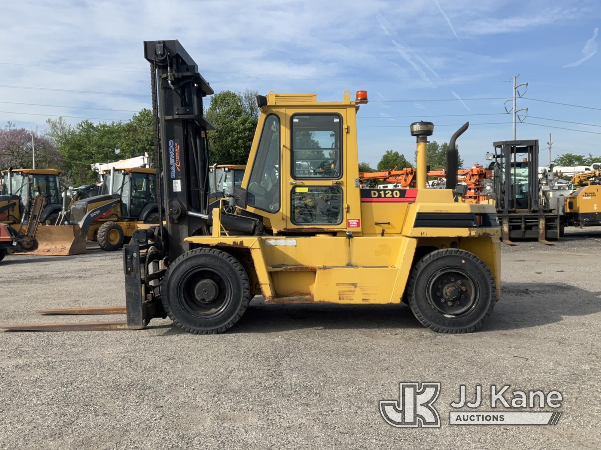
[[[242,185],[232,205],[209,215],[207,131],[214,127],[203,100],[213,89],[178,41],[147,41],[144,56],[160,123],[164,226],[136,230],[124,245],[124,307],[44,311],[124,313],[127,320],[2,328],[136,329],[169,316],[186,331],[215,334],[233,326],[254,295],[268,304],[404,301],[437,332],[484,323],[500,295],[501,229],[494,206],[456,202],[454,142],[469,124],[451,139],[448,189],[426,189],[430,122],[410,127],[416,189],[362,189],[356,113],[367,92],[352,100],[344,91],[342,101],[258,95]]]

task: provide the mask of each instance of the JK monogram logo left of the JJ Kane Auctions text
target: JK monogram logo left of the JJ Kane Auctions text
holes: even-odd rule
[[[399,399],[380,400],[380,414],[393,427],[440,427],[441,418],[432,404],[441,383],[399,383]]]

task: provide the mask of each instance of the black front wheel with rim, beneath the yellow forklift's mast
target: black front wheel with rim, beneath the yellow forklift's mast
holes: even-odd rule
[[[238,322],[251,299],[244,266],[215,248],[178,257],[163,278],[162,301],[173,323],[192,334],[218,334]]]

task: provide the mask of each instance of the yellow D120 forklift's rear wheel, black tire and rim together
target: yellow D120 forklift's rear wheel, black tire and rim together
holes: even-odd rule
[[[469,333],[492,313],[495,278],[474,254],[445,248],[418,261],[407,296],[413,314],[424,326],[439,333]]]

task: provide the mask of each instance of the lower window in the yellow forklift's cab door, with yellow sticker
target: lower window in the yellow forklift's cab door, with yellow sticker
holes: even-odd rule
[[[291,191],[291,220],[295,225],[338,225],[342,223],[340,186],[297,186]]]

